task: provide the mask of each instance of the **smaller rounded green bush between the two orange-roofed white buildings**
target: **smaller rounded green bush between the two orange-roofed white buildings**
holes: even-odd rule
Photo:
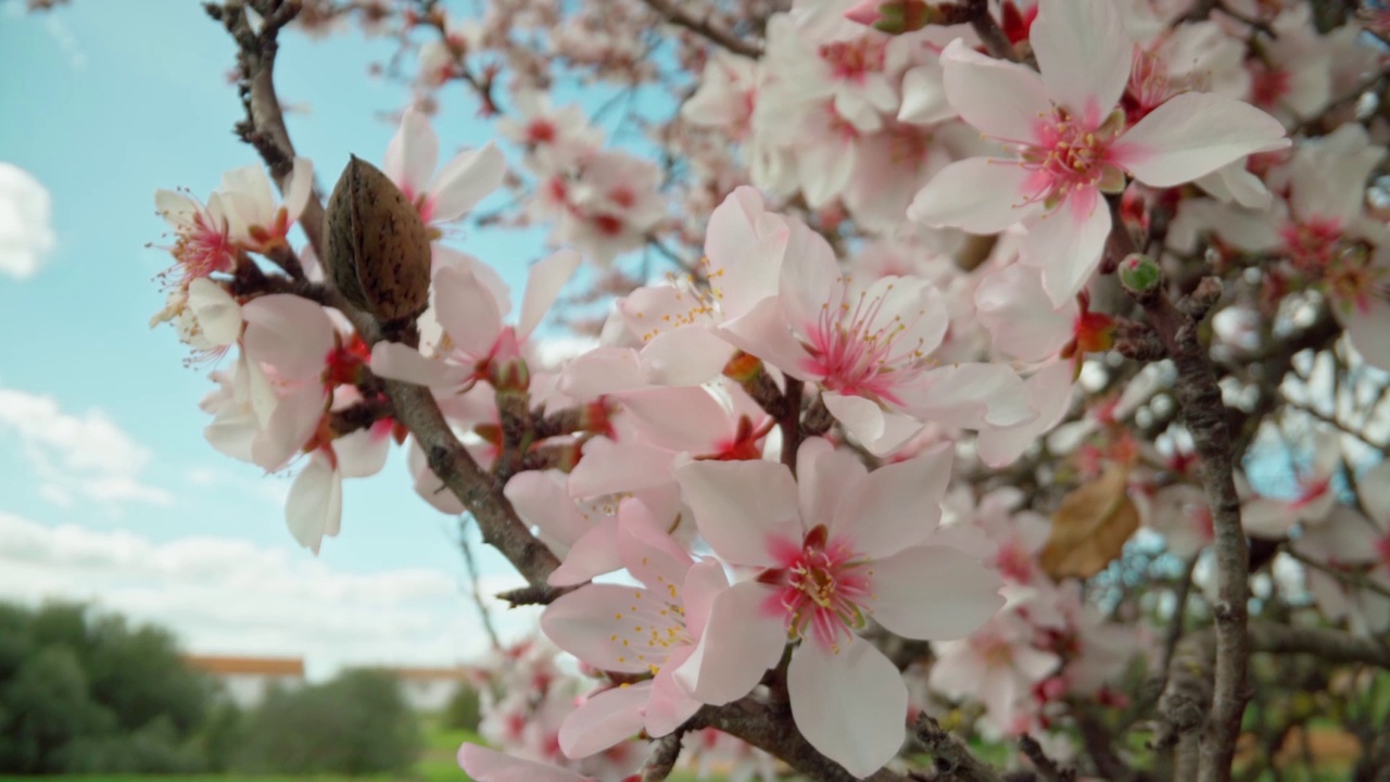
[[[404,772],[421,744],[395,676],[345,671],[324,685],[272,690],[249,715],[235,765],[275,774]]]

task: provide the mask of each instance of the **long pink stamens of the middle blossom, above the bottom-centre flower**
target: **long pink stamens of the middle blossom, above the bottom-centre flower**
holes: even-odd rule
[[[853,306],[847,301],[848,280],[845,288],[840,305],[824,303],[816,323],[806,330],[812,355],[806,369],[831,391],[901,405],[895,388],[917,377],[926,365],[922,338],[909,342],[902,335],[926,310],[919,310],[910,323],[899,314],[881,319],[892,284],[874,298],[860,292]]]

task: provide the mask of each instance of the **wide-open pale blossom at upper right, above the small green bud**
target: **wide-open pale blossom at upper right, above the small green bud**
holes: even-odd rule
[[[1176,95],[1129,125],[1116,104],[1133,43],[1108,0],[1040,0],[1029,40],[1041,75],[959,39],[941,53],[951,106],[1016,157],[947,166],[908,216],[976,234],[1022,223],[1023,260],[1054,305],[1095,270],[1111,232],[1102,193],[1123,191],[1126,174],[1169,188],[1290,143],[1273,117],[1213,93]]]

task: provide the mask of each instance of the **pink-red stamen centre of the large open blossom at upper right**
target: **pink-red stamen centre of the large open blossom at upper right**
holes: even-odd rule
[[[1112,111],[1095,125],[1054,106],[1034,125],[1033,143],[1020,150],[1019,164],[1033,171],[1029,202],[1041,200],[1051,209],[1080,191],[1123,189],[1125,173],[1109,161],[1111,143],[1122,129],[1123,111]]]

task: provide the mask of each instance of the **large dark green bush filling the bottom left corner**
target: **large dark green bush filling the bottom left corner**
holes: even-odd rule
[[[0,772],[202,771],[211,693],[164,630],[0,604]]]

